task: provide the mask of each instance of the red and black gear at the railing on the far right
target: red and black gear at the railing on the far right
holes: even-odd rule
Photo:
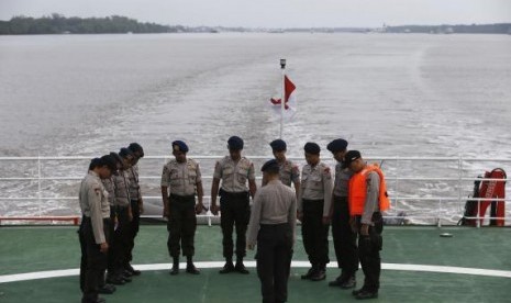
[[[482,225],[486,211],[491,205],[490,216],[496,218],[490,220],[490,226],[504,226],[504,201],[492,201],[490,199],[506,199],[506,171],[502,168],[496,168],[491,171],[486,171],[484,178],[502,180],[476,180],[474,182],[473,199],[466,202],[465,214],[459,221],[459,225],[477,226],[476,218],[467,217],[480,217],[479,224]],[[478,200],[477,198],[485,200]]]

